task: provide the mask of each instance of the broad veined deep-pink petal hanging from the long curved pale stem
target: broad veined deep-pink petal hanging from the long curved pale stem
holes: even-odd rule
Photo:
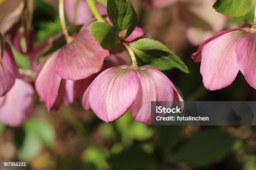
[[[68,45],[61,48],[56,61],[56,73],[68,80],[82,80],[99,72],[110,55],[84,28]]]

